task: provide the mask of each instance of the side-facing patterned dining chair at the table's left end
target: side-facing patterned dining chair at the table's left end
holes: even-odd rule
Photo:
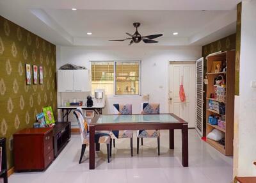
[[[81,107],[77,107],[76,110],[74,110],[74,115],[77,118],[77,122],[80,129],[80,135],[81,135],[81,142],[82,142],[82,148],[81,148],[81,155],[79,159],[79,164],[81,163],[83,159],[83,155],[86,149],[86,145],[90,143],[90,133],[89,133],[89,124],[87,120],[84,118],[83,111]],[[110,152],[110,133],[107,131],[95,131],[95,143],[106,143],[107,145],[107,154],[108,154],[108,163],[109,163],[109,154]]]

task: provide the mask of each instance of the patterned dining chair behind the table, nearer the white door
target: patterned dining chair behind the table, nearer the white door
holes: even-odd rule
[[[143,115],[159,115],[159,103],[141,103],[141,114]],[[139,154],[139,146],[143,145],[143,138],[157,138],[158,155],[160,155],[160,131],[158,130],[139,130],[137,131],[137,154]]]

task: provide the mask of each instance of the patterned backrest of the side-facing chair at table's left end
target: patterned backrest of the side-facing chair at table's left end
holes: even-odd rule
[[[86,139],[86,136],[89,132],[89,126],[88,126],[86,119],[84,119],[83,111],[82,111],[81,107],[77,107],[77,109],[74,110],[73,113],[76,116],[76,119],[77,119],[77,122],[79,125],[79,129],[80,129],[81,141],[83,143],[84,139]]]

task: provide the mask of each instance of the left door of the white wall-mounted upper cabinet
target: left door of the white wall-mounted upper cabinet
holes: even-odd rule
[[[58,92],[74,92],[73,70],[58,70]]]

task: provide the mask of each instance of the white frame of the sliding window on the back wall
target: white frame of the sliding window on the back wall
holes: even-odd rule
[[[108,97],[125,97],[125,96],[141,96],[141,60],[95,60],[95,61],[90,61],[92,62],[113,62],[114,63],[114,84],[113,84],[113,95],[107,95]],[[124,95],[116,95],[116,62],[138,62],[139,63],[139,93],[138,94],[124,94]],[[92,65],[90,65],[90,70],[91,73],[90,75],[92,76]],[[92,91],[92,77],[90,77],[90,84],[91,84],[91,93]],[[92,93],[94,95],[94,93]]]

